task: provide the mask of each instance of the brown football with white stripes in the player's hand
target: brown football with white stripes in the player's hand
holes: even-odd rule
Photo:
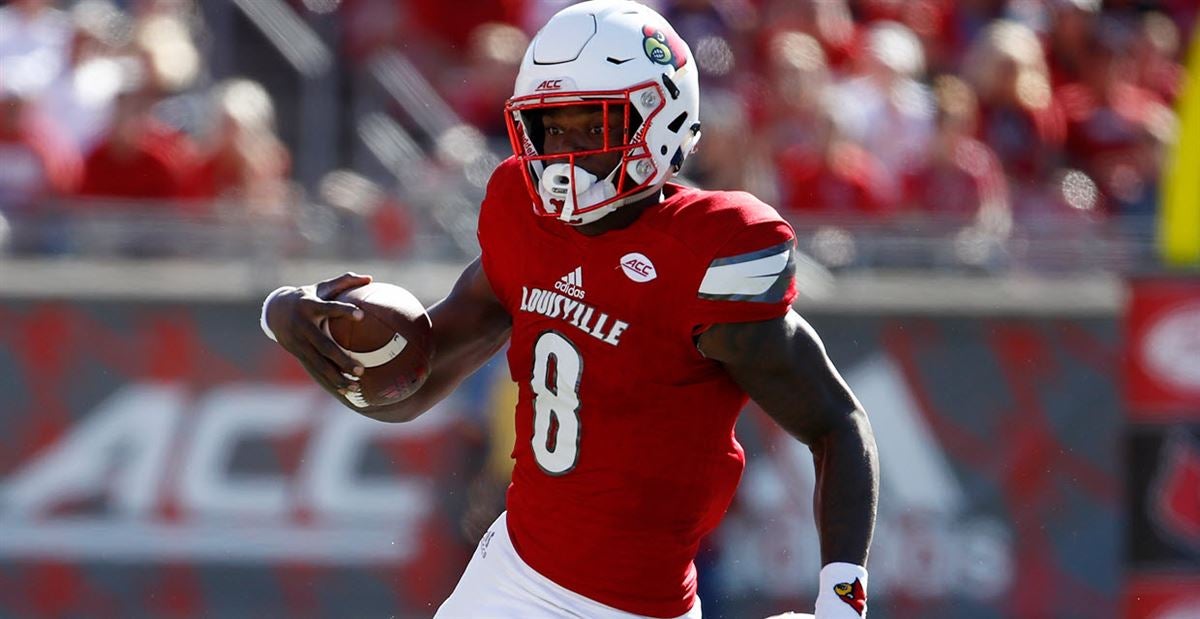
[[[362,319],[331,318],[325,332],[362,365],[359,391],[346,399],[356,408],[394,404],[425,384],[433,353],[433,325],[408,290],[372,282],[337,296],[362,310]]]

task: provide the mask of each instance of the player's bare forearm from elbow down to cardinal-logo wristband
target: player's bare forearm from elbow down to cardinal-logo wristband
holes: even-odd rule
[[[878,453],[866,415],[858,410],[812,441],[814,513],[821,563],[866,565],[880,494]]]

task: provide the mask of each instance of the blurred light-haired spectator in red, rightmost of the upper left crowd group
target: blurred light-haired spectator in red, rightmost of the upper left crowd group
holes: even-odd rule
[[[259,214],[287,206],[289,155],[275,134],[275,108],[258,83],[228,79],[212,89],[216,121],[190,179],[188,193],[221,198]]]

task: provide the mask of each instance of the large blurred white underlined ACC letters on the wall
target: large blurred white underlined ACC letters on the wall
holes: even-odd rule
[[[431,440],[446,419],[377,423],[311,387],[232,384],[193,398],[182,385],[132,383],[7,476],[0,555],[403,561],[436,491],[419,476],[364,475],[361,463],[372,445]],[[293,473],[239,463],[240,447],[289,438]],[[88,501],[104,507],[71,509]]]

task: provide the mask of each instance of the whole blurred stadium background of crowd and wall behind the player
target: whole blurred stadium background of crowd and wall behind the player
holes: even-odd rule
[[[432,614],[500,509],[503,367],[374,423],[258,301],[440,296],[565,4],[0,1],[0,617]],[[871,617],[1200,617],[1196,2],[655,6],[688,180],[793,222],[875,423]],[[810,608],[808,452],[739,437],[706,617]]]

